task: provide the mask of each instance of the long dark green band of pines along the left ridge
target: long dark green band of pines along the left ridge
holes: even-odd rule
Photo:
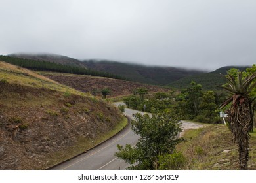
[[[95,71],[92,69],[86,69],[83,67],[76,67],[72,65],[62,65],[60,63],[53,63],[50,61],[14,58],[11,56],[3,56],[3,55],[0,55],[0,61],[5,61],[13,65],[18,65],[20,67],[24,67],[24,68],[32,69],[36,71],[53,71],[53,72],[59,72],[59,73],[71,73],[71,74],[77,74],[77,75],[91,75],[91,76],[100,76],[100,77],[114,78],[114,79],[120,79],[120,80],[130,80],[128,78],[124,78],[123,76],[114,75],[112,73]]]

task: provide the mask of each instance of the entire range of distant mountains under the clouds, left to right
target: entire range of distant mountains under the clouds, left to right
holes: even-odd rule
[[[227,66],[207,73],[205,71],[188,70],[177,67],[154,67],[131,63],[121,63],[117,61],[79,61],[74,58],[56,54],[11,54],[9,56],[51,61],[64,65],[73,65],[77,67],[92,69],[94,71],[104,71],[106,73],[111,73],[114,75],[122,76],[123,78],[131,79],[135,82],[169,86],[179,89],[187,88],[190,82],[194,81],[198,84],[202,84],[203,89],[205,90],[214,90],[217,89],[217,86],[226,83],[225,78],[223,78],[220,73],[225,75],[226,71],[231,68],[236,68],[243,71],[247,68],[246,66]]]

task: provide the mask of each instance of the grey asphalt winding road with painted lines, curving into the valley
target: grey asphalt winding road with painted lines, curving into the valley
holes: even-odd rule
[[[122,105],[123,103],[115,103],[115,105]],[[133,119],[133,114],[140,112],[138,110],[132,110],[125,108],[125,115],[128,118]],[[144,112],[140,112],[144,113]],[[182,121],[182,129],[200,128],[203,127],[202,124],[194,124],[191,122]],[[182,135],[182,133],[181,133]],[[181,136],[180,135],[180,136]],[[116,136],[112,137],[108,141],[96,146],[95,148],[89,150],[87,153],[81,154],[69,161],[65,161],[59,165],[54,166],[51,169],[54,170],[118,170],[126,169],[129,165],[125,161],[118,159],[114,154],[118,151],[117,144],[125,146],[125,144],[135,145],[139,135],[136,135],[131,130],[131,125],[129,124],[125,129],[123,129]]]

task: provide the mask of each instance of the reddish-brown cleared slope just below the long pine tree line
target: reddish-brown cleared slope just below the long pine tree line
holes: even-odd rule
[[[112,78],[102,78],[94,76],[83,75],[69,75],[60,73],[43,73],[44,76],[55,80],[61,84],[71,86],[76,90],[82,92],[89,92],[93,95],[101,95],[100,90],[104,88],[110,89],[110,96],[119,97],[125,95],[132,95],[137,88],[148,88],[148,92],[167,92],[166,88],[158,86],[150,86],[147,84],[140,84],[138,82],[129,82],[125,80],[116,80]]]

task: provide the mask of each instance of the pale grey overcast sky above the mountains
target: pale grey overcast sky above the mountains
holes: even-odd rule
[[[0,0],[0,54],[214,70],[256,63],[255,0]]]

